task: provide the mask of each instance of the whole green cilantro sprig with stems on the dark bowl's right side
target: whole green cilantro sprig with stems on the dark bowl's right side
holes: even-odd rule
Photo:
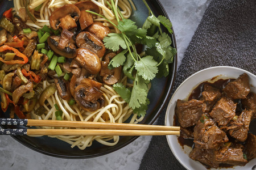
[[[150,80],[167,76],[169,74],[168,64],[172,62],[176,54],[176,49],[171,46],[171,37],[163,32],[163,27],[165,27],[169,33],[172,33],[170,20],[162,15],[156,17],[146,1],[143,0],[143,2],[148,8],[149,15],[142,28],[138,28],[132,20],[124,19],[113,0],[107,3],[113,10],[118,24],[109,22],[118,28],[120,33],[109,33],[103,40],[107,49],[114,52],[123,49],[110,61],[109,67],[122,66],[123,73],[133,80],[133,87],[126,88],[122,83],[116,83],[113,88],[123,100],[129,103],[129,107],[138,116],[146,114],[147,105],[150,103],[147,98]],[[88,12],[99,15],[92,11]],[[146,50],[138,54],[136,44],[144,45]]]

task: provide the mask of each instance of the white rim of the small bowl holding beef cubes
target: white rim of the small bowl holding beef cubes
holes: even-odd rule
[[[214,70],[214,69],[239,70],[239,71],[242,71],[243,73],[246,73],[246,74],[248,74],[248,75],[253,76],[253,77],[256,79],[256,75],[254,75],[253,73],[250,73],[249,71],[240,69],[240,68],[238,68],[238,67],[233,67],[233,66],[214,66],[214,67],[208,67],[208,68],[206,68],[206,69],[197,71],[196,73],[190,75],[187,79],[185,79],[185,80],[179,85],[179,87],[176,88],[174,94],[172,95],[172,97],[171,97],[171,99],[170,99],[170,101],[169,101],[169,103],[168,103],[168,107],[167,107],[167,109],[166,109],[166,115],[165,115],[165,118],[164,118],[164,125],[165,125],[165,126],[167,126],[167,118],[168,118],[168,114],[169,114],[168,111],[170,111],[171,102],[172,102],[173,98],[175,97],[175,94],[177,93],[177,91],[179,91],[179,89],[181,88],[181,86],[183,86],[183,84],[185,84],[185,83],[186,83],[189,79],[191,79],[193,76],[196,76],[197,74],[201,74],[201,73],[204,72],[204,71]],[[224,73],[224,74],[225,74],[225,73]],[[217,76],[217,75],[216,75],[216,76]],[[205,79],[205,80],[209,80],[209,79],[211,79],[211,78],[212,78],[212,77],[209,77],[208,79]],[[202,80],[201,82],[203,82],[203,81],[205,81],[205,80]],[[199,83],[201,83],[201,82],[198,82],[197,84],[199,84]],[[196,86],[197,84],[195,84],[195,86]],[[191,89],[192,89],[193,87],[194,87],[194,86],[192,86]],[[191,89],[189,89],[188,92],[190,92]],[[166,139],[167,139],[168,146],[170,147],[170,149],[171,149],[171,151],[172,151],[172,154],[174,154],[175,158],[179,161],[179,163],[180,163],[181,165],[183,165],[184,168],[189,169],[189,167],[187,167],[187,165],[185,165],[184,162],[181,161],[181,160],[178,158],[176,152],[175,152],[175,151],[173,150],[173,148],[171,147],[171,141],[170,141],[170,139],[168,138],[168,135],[166,135]],[[183,149],[183,151],[184,151],[184,149]],[[190,158],[189,158],[189,159],[190,159]],[[191,160],[192,160],[192,159],[191,159]],[[196,161],[193,160],[193,162],[196,162]],[[236,167],[236,166],[235,166],[235,167]],[[233,168],[233,167],[232,167],[232,168]]]

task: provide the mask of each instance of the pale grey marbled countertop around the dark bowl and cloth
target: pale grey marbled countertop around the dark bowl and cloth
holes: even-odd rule
[[[210,0],[160,0],[171,19],[178,66]],[[9,136],[0,137],[1,169],[138,169],[150,143],[142,136],[118,151],[91,159],[60,159],[31,150]]]

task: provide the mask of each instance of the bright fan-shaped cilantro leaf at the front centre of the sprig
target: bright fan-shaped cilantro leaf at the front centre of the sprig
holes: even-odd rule
[[[158,73],[158,67],[152,56],[146,56],[141,58],[139,61],[135,61],[135,69],[138,71],[137,74],[141,75],[145,80],[152,80],[155,74]]]

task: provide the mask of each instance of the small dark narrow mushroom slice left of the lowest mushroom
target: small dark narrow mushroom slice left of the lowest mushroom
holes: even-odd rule
[[[71,92],[69,90],[69,82],[64,78],[55,78],[55,85],[57,87],[58,94],[64,100],[69,101],[71,99]]]

